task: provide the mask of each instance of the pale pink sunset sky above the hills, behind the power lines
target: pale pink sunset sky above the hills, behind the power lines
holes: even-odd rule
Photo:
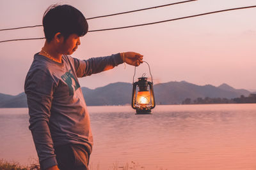
[[[182,1],[182,0],[181,0]],[[86,18],[137,10],[176,1],[157,0],[76,0],[0,1],[0,29],[42,24],[47,7],[70,4]],[[198,0],[154,10],[88,20],[89,30],[156,22],[209,11],[256,5],[255,0]],[[227,83],[236,89],[256,89],[256,8],[228,11],[196,18],[114,31],[88,32],[72,55],[89,59],[112,53],[134,51],[150,64],[154,83],[188,81],[214,86]],[[0,41],[44,37],[42,27],[0,31]],[[17,95],[33,55],[40,52],[42,40],[0,43],[0,93]],[[146,64],[138,74],[148,73]],[[132,83],[134,67],[124,64],[111,71],[79,79],[81,87],[95,89],[116,81]],[[255,90],[256,91],[256,90]]]

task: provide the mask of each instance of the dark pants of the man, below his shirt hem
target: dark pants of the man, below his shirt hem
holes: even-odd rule
[[[60,170],[88,170],[90,154],[83,145],[63,145],[55,148]]]

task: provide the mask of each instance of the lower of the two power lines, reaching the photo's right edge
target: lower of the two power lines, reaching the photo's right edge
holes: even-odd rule
[[[109,31],[109,30],[114,30],[114,29],[125,29],[125,28],[131,28],[131,27],[140,27],[140,26],[144,26],[144,25],[159,24],[159,23],[163,23],[163,22],[171,22],[171,21],[182,20],[182,19],[186,19],[186,18],[199,17],[199,16],[202,16],[202,15],[210,15],[210,14],[213,14],[213,13],[221,13],[221,12],[225,12],[225,11],[234,11],[234,10],[243,10],[243,9],[248,9],[248,8],[256,8],[256,5],[255,6],[244,6],[244,7],[240,7],[240,8],[231,8],[231,9],[220,10],[220,11],[212,11],[212,12],[207,12],[207,13],[200,13],[198,15],[190,15],[190,16],[187,16],[187,17],[173,18],[173,19],[170,19],[170,20],[162,20],[162,21],[150,22],[150,23],[146,23],[146,24],[129,25],[129,26],[125,26],[125,27],[115,27],[115,28],[109,28],[109,29],[97,29],[97,30],[91,30],[91,31],[88,31],[88,32]],[[5,40],[5,41],[0,41],[0,43],[8,42],[8,41],[28,40],[28,39],[44,39],[44,38],[9,39],[9,40]]]

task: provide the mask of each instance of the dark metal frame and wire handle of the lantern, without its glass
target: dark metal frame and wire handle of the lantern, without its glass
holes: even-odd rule
[[[145,62],[145,61],[143,61]],[[145,62],[148,64],[148,62]],[[132,102],[131,102],[131,106],[134,110],[136,110],[136,115],[147,115],[147,114],[152,114],[151,110],[154,109],[156,107],[156,100],[155,100],[155,96],[154,96],[154,90],[153,90],[153,77],[150,71],[150,66],[148,64],[148,68],[149,68],[149,73],[151,76],[151,82],[147,81],[147,77],[145,77],[145,73],[143,73],[143,75],[138,78],[138,81],[134,82],[134,76],[136,74],[136,67],[134,67],[134,76],[133,76],[133,80],[132,80]],[[141,90],[141,92],[148,91],[148,87],[149,87],[149,92],[150,92],[150,102],[151,103],[149,106],[147,106],[147,104],[138,104],[138,101],[136,99],[137,95],[136,95],[136,87],[139,87],[139,89]],[[139,91],[138,91],[139,92]],[[138,94],[138,93],[137,93]]]

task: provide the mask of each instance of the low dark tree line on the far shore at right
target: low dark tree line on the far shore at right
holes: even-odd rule
[[[198,97],[195,100],[192,100],[190,98],[186,98],[184,101],[182,101],[182,104],[228,104],[228,103],[256,103],[256,94],[250,94],[248,97],[244,97],[241,95],[240,97],[236,97],[233,99],[227,99],[227,98],[211,98],[211,97],[205,97],[204,99],[202,97]]]

